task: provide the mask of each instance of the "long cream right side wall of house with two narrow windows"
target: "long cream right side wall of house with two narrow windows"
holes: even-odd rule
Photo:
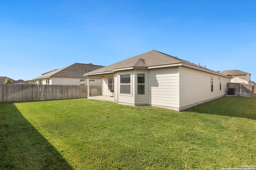
[[[179,67],[179,76],[180,110],[224,96],[226,84],[230,82],[230,78],[182,66]],[[211,77],[213,77],[213,92],[211,92]],[[220,79],[222,90],[220,90]]]

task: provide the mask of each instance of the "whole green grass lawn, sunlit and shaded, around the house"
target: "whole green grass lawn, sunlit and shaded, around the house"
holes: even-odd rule
[[[256,165],[256,99],[183,112],[89,99],[0,103],[0,169],[214,169]]]

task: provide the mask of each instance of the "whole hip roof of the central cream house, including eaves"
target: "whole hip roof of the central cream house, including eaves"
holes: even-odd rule
[[[223,74],[220,74],[214,70],[210,70],[200,65],[190,63],[189,61],[178,59],[177,57],[167,55],[156,50],[152,50],[147,53],[143,53],[141,55],[131,57],[129,59],[111,64],[103,68],[99,68],[98,70],[88,72],[85,75],[106,74],[106,73],[111,73],[118,70],[129,70],[129,69],[136,69],[136,68],[146,69],[146,68],[161,68],[166,66],[181,66],[181,65],[192,66],[193,68],[198,70],[214,72],[214,74],[219,74],[223,76]]]

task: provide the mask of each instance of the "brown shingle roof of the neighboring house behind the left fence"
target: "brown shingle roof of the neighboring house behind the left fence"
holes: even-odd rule
[[[82,63],[74,63],[69,66],[43,73],[42,76],[34,78],[34,80],[50,77],[69,77],[69,78],[86,78],[85,73],[91,72],[104,66]]]

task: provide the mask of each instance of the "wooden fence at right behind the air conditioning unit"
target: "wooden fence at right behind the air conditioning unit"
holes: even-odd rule
[[[256,98],[256,85],[228,83],[228,88],[235,88],[236,95],[249,98]]]

